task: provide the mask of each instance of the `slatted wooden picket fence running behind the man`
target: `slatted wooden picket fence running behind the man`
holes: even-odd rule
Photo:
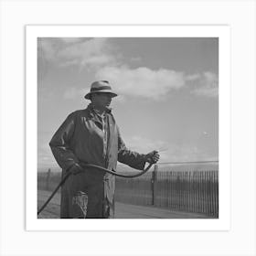
[[[131,174],[131,173],[130,173]],[[48,191],[60,173],[38,173],[37,187]],[[136,178],[116,177],[115,200],[219,217],[219,171],[157,171]]]

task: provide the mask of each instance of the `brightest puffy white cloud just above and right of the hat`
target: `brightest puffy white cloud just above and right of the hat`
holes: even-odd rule
[[[171,91],[182,88],[185,78],[182,72],[168,69],[130,69],[127,66],[105,67],[96,72],[99,80],[110,80],[123,95],[159,100]]]

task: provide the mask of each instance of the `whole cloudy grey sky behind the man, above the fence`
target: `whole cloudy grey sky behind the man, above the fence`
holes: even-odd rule
[[[162,149],[160,162],[219,158],[218,38],[38,38],[38,167],[57,166],[48,146],[94,80],[119,96],[112,112],[127,147]]]

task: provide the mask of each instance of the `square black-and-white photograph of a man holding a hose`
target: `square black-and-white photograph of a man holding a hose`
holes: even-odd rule
[[[218,219],[219,37],[37,37],[37,218]]]

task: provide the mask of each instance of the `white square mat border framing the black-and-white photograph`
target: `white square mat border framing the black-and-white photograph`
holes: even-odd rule
[[[229,230],[228,26],[27,26],[27,230]],[[219,219],[37,219],[37,37],[219,37]]]

